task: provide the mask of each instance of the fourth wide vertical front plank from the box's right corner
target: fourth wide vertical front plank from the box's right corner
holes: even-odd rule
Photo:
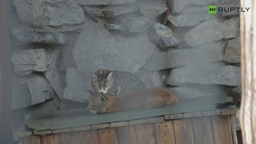
[[[175,144],[172,121],[156,122],[156,144]]]

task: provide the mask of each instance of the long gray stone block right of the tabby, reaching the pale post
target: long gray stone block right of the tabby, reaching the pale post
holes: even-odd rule
[[[180,86],[185,83],[238,86],[241,84],[241,68],[206,63],[172,69],[166,84]]]

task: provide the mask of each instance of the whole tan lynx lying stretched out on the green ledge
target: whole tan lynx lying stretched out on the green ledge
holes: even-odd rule
[[[90,98],[87,110],[90,114],[112,113],[124,110],[160,108],[178,104],[178,99],[166,88],[136,90],[119,96],[95,92]]]

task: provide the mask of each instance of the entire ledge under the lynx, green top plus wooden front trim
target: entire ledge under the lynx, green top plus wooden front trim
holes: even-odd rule
[[[232,102],[228,96],[211,96],[180,100],[180,104],[148,110],[131,110],[110,114],[87,116],[86,109],[46,112],[32,115],[25,124],[33,130],[24,131],[17,137],[27,137],[32,134],[54,134],[108,127],[120,127],[145,123],[164,122],[166,120],[191,118],[200,116],[234,114],[236,106],[216,109],[217,103]],[[23,128],[23,129],[24,129]]]

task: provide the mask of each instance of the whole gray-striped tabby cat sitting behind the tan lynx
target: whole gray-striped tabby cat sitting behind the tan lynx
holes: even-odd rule
[[[101,69],[91,73],[91,76],[95,91],[114,96],[146,88],[137,76],[128,72]]]

